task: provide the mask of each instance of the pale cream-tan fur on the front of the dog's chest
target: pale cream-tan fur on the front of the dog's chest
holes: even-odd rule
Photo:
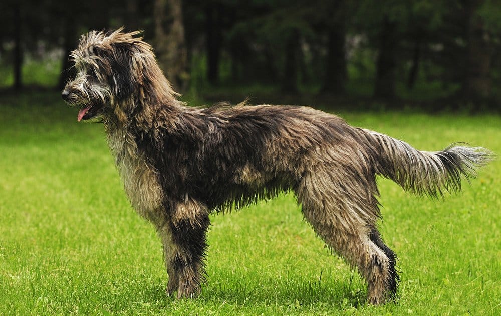
[[[133,136],[123,129],[108,133],[108,145],[132,207],[141,216],[152,219],[160,211],[163,199],[153,167],[138,152]]]

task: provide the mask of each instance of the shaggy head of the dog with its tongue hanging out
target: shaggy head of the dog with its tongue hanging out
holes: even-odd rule
[[[69,105],[80,107],[79,122],[131,111],[124,107],[135,104],[133,94],[151,85],[151,73],[164,77],[151,46],[137,37],[139,33],[125,33],[120,28],[82,35],[78,48],[70,54],[76,77],[62,92]]]

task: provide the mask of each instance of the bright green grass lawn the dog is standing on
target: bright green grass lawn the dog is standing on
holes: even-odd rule
[[[130,207],[99,124],[54,95],[0,99],[0,314],[500,314],[501,161],[440,201],[381,179],[381,232],[400,298],[366,306],[365,284],[328,253],[292,195],[212,215],[208,284],[164,295],[153,227]],[[465,141],[501,152],[501,117],[345,113],[422,150]]]

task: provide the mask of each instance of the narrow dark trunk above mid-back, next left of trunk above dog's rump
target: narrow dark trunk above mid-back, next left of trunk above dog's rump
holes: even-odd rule
[[[285,70],[282,79],[282,91],[288,93],[298,92],[298,32],[291,31],[285,45]]]

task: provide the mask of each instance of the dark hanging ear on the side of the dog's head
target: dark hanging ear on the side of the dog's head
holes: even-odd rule
[[[113,48],[110,59],[112,71],[110,86],[115,97],[118,100],[123,100],[134,91],[136,85],[131,69],[131,45],[129,43],[115,43]]]

